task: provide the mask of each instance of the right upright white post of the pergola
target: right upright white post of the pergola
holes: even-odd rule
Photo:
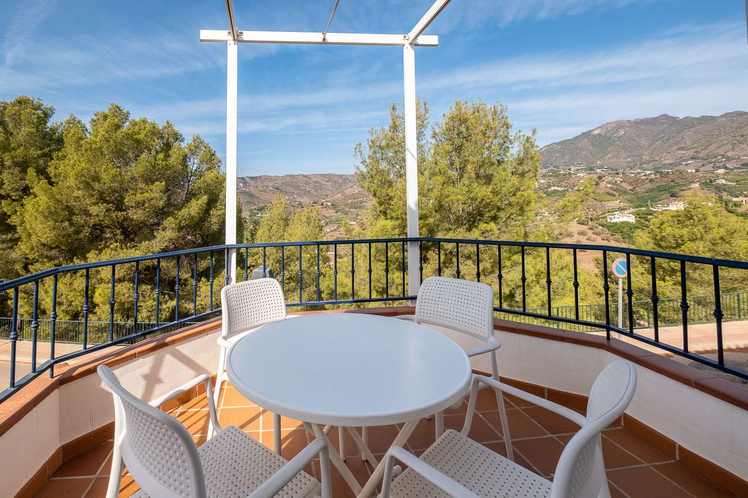
[[[409,43],[402,46],[402,71],[405,84],[405,201],[408,237],[419,237],[416,64],[413,46]],[[420,287],[419,260],[418,243],[408,242],[408,294],[411,296],[416,296]]]

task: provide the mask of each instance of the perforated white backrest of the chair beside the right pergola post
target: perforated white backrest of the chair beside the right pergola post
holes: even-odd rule
[[[488,340],[494,334],[494,289],[460,278],[426,278],[418,290],[415,322]]]

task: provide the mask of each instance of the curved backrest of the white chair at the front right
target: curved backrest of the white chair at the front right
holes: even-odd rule
[[[600,432],[623,414],[636,389],[637,370],[629,361],[613,361],[598,375],[589,393],[586,423],[561,453],[551,498],[597,498],[607,486]]]

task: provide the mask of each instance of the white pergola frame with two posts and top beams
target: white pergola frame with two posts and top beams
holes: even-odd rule
[[[240,31],[236,28],[233,4],[225,0],[228,30],[200,30],[201,42],[227,45],[226,71],[226,243],[236,243],[236,125],[239,43],[288,43],[304,45],[402,46],[405,87],[405,200],[408,237],[418,231],[418,152],[416,139],[416,81],[414,47],[438,46],[439,39],[423,31],[447,7],[450,0],[436,0],[408,34],[305,33],[298,31]],[[332,18],[331,18],[332,19]],[[328,23],[329,26],[329,23]],[[420,287],[418,243],[408,243],[408,293],[415,296]],[[236,250],[230,251],[229,283],[236,281]]]

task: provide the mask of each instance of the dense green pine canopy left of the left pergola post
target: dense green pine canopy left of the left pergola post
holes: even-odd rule
[[[0,102],[0,277],[222,243],[225,175],[199,135],[186,142],[170,122],[133,119],[116,104],[94,113],[88,125],[74,116],[52,123],[53,114],[25,96]],[[123,303],[117,316],[127,317],[133,270],[120,272],[117,293],[130,297],[117,299]],[[165,264],[164,278],[168,272]],[[61,318],[81,312],[79,277],[61,278]],[[44,290],[40,305],[48,311]],[[141,294],[147,309],[152,293]],[[162,297],[168,309],[168,293]],[[92,299],[93,314],[108,311],[108,295]]]

